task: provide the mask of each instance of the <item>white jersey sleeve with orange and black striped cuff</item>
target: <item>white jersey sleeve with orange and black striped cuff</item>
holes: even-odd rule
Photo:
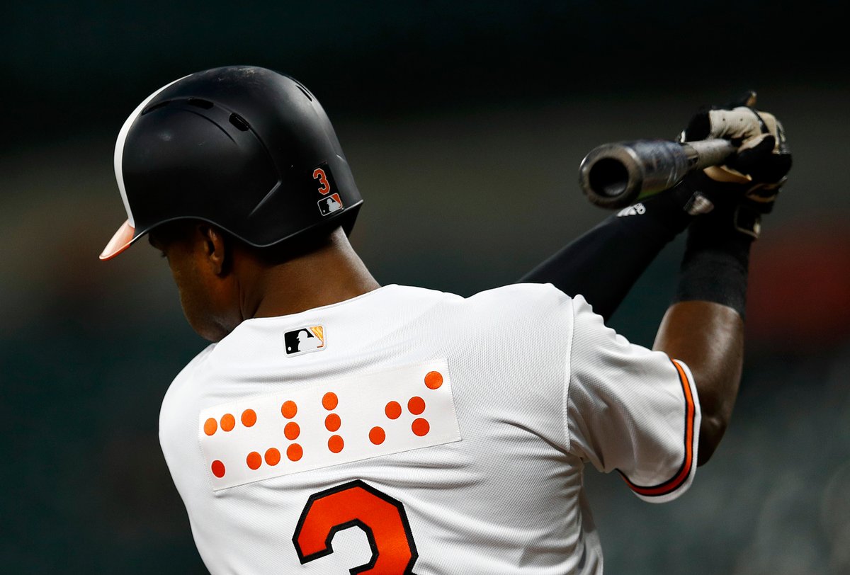
[[[573,299],[566,392],[570,453],[619,471],[641,499],[676,499],[693,481],[700,402],[688,366],[634,345]]]

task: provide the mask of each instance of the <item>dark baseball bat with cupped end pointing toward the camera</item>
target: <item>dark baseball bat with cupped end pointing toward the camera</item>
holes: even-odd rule
[[[592,204],[619,209],[672,188],[688,172],[722,165],[736,149],[724,139],[602,144],[581,161],[579,185]]]

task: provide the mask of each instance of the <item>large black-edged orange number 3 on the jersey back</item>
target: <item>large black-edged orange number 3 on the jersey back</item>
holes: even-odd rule
[[[369,538],[372,557],[350,572],[413,573],[418,555],[405,506],[359,479],[310,496],[292,536],[298,559],[304,564],[330,555],[337,531],[354,526]]]

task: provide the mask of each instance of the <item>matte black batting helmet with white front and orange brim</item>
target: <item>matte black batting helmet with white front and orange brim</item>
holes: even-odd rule
[[[150,94],[118,133],[115,174],[127,222],[102,260],[184,218],[257,247],[329,223],[349,233],[363,202],[319,101],[256,66],[204,70]]]

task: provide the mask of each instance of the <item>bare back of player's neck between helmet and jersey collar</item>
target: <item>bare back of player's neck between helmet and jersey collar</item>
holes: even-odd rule
[[[341,230],[318,251],[264,268],[255,286],[243,300],[246,319],[299,313],[380,287]]]

